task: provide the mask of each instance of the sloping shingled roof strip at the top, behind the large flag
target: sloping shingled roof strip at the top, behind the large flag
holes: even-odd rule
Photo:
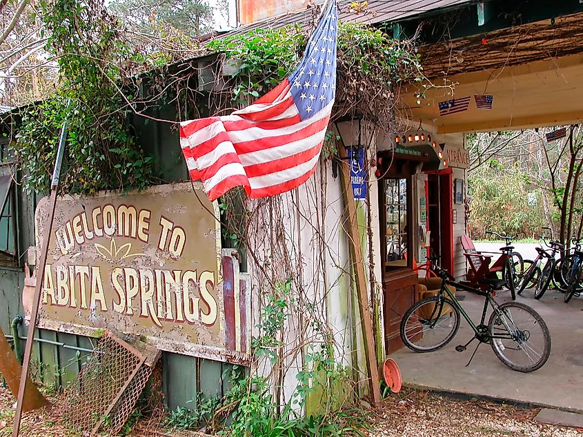
[[[369,0],[368,7],[362,12],[350,9],[353,0],[339,0],[340,21],[355,21],[357,23],[391,23],[423,17],[443,10],[456,9],[477,3],[477,0]],[[241,26],[226,34],[241,34],[254,29],[279,29],[289,24],[298,23],[308,26],[314,20],[313,8],[305,8],[289,12],[277,17],[270,17],[255,23]]]

